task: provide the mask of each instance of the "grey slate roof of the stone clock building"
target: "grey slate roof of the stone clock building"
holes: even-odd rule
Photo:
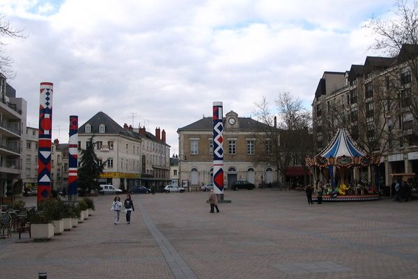
[[[225,121],[225,119],[224,119]],[[266,125],[249,117],[238,117],[238,125],[240,130],[265,130]],[[212,131],[213,123],[212,117],[203,117],[187,126],[178,128],[177,133],[183,130],[193,131]]]

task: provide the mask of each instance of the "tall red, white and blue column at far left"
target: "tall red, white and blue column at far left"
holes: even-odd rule
[[[40,83],[38,136],[38,202],[51,193],[52,82]]]

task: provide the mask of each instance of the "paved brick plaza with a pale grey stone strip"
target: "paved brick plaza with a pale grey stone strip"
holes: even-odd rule
[[[418,278],[418,201],[309,205],[256,189],[226,191],[232,203],[209,213],[207,193],[132,197],[130,225],[99,196],[50,241],[0,239],[0,278]]]

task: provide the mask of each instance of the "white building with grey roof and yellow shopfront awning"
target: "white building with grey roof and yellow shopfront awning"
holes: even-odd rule
[[[132,186],[162,188],[170,181],[170,146],[166,133],[155,128],[155,135],[145,127],[120,126],[104,112],[98,112],[79,127],[79,147],[86,149],[94,135],[95,152],[106,162],[101,184],[128,190]],[[80,157],[79,157],[80,158]]]

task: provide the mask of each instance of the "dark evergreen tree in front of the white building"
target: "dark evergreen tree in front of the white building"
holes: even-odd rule
[[[80,151],[81,158],[79,160],[78,186],[85,193],[90,193],[93,189],[98,189],[98,179],[103,173],[106,163],[100,163],[98,156],[94,151],[93,136],[88,139],[86,149]]]

